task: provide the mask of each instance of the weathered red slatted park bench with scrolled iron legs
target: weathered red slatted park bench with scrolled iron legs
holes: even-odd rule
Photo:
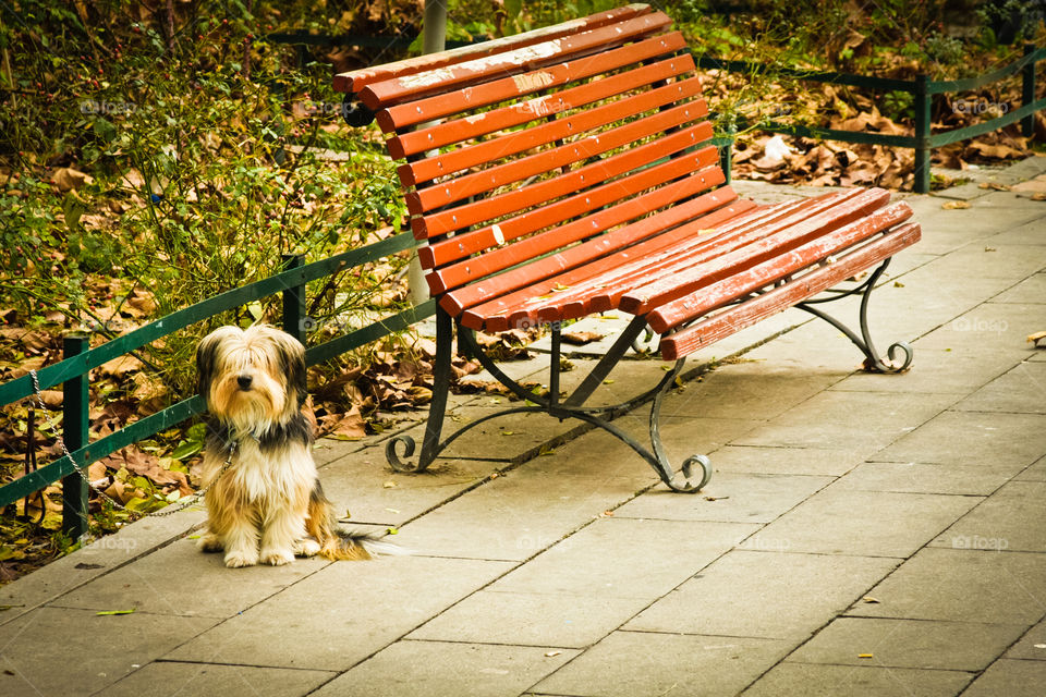
[[[436,310],[435,391],[422,452],[389,441],[398,469],[423,470],[474,421],[440,441],[454,326],[458,344],[524,402],[604,428],[676,491],[710,476],[704,455],[676,472],[658,436],[662,396],[686,356],[789,307],[822,317],[864,353],[865,368],[901,371],[868,334],[868,295],[890,257],[916,242],[904,203],[879,188],[758,205],[725,183],[694,61],[671,20],[648,5],[460,49],[339,74],[345,119],[376,119],[405,188]],[[837,286],[874,269],[863,283]],[[831,291],[825,294],[825,291]],[[860,333],[817,303],[861,295]],[[813,296],[817,295],[817,298]],[[633,319],[572,394],[560,398],[562,322],[608,310]],[[502,372],[474,332],[547,325],[547,396]],[[647,329],[649,328],[649,329]],[[674,367],[627,403],[586,406],[644,332]],[[903,355],[901,355],[903,354]],[[652,449],[611,420],[646,401]],[[403,453],[398,452],[402,443]]]

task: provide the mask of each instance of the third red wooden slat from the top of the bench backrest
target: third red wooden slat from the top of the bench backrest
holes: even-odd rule
[[[385,133],[394,133],[426,121],[471,111],[499,101],[515,100],[545,89],[592,77],[622,65],[638,63],[686,48],[679,32],[666,34],[623,48],[579,58],[568,63],[550,65],[539,71],[492,80],[466,89],[417,99],[410,103],[389,107],[377,112],[378,125]]]

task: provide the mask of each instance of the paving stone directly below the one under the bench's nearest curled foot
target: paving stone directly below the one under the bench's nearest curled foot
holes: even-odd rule
[[[620,511],[558,542],[487,590],[581,596],[598,592],[654,600],[758,527],[619,518]]]

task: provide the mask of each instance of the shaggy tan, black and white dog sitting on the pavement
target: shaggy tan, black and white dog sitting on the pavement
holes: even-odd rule
[[[203,551],[224,551],[229,567],[398,553],[393,545],[341,530],[324,496],[301,342],[268,325],[220,327],[197,345],[196,368],[209,413]]]

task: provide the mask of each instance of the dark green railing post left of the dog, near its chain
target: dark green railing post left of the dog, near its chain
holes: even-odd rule
[[[62,345],[62,358],[71,358],[90,347],[90,340],[84,334],[69,334]],[[75,453],[87,444],[89,413],[87,375],[70,378],[62,383],[62,442],[65,450]],[[62,533],[77,540],[87,533],[87,465],[83,463],[83,473],[73,472],[62,478]],[[77,463],[73,460],[73,467]]]

